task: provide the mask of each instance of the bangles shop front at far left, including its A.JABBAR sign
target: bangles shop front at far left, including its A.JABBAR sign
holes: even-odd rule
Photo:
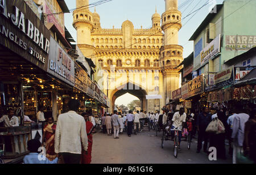
[[[36,116],[37,93],[30,83],[46,74],[50,32],[24,1],[1,1],[0,19],[0,117],[12,108],[19,119],[16,127],[1,123],[0,142],[3,158],[14,159],[27,153],[26,141],[32,138],[23,116]]]

